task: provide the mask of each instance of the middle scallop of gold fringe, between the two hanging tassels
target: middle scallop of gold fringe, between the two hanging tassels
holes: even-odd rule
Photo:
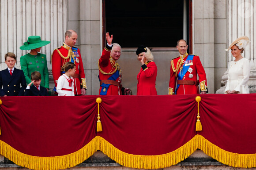
[[[186,159],[197,149],[195,140],[196,138],[194,137],[175,151],[163,155],[132,155],[115,148],[104,138],[100,136],[97,137],[99,143],[101,144],[98,146],[97,150],[102,151],[105,155],[109,156],[109,158],[113,159],[120,165],[131,168],[158,169],[176,165],[177,163],[180,163]]]

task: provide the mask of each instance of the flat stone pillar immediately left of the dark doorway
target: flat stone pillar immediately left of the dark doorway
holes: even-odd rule
[[[87,95],[98,95],[98,59],[101,56],[101,0],[68,0],[68,29],[78,33],[87,82]],[[95,88],[97,87],[97,88]]]

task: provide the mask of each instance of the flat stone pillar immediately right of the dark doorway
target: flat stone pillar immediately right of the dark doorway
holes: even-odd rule
[[[214,93],[215,29],[214,0],[194,0],[194,51],[206,72],[209,93]]]

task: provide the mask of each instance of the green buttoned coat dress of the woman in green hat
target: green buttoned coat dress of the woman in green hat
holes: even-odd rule
[[[49,72],[45,54],[38,53],[37,55],[23,55],[20,57],[20,65],[24,72],[27,84],[31,82],[31,72],[38,71],[41,74],[40,85],[49,88]]]

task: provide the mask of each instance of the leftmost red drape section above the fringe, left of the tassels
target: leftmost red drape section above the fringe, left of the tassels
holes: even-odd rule
[[[0,140],[32,156],[75,152],[96,136],[95,97],[3,97]]]

